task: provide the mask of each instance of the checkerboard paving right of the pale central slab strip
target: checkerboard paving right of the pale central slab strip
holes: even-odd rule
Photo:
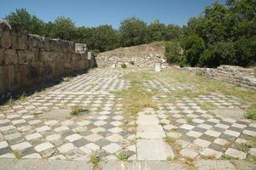
[[[165,87],[165,84],[158,86]],[[190,87],[183,86],[183,89]],[[194,159],[218,159],[224,155],[239,159],[256,156],[255,145],[250,146],[250,149],[245,146],[248,141],[255,140],[256,122],[214,116],[212,111],[203,110],[200,105],[207,101],[218,105],[218,108],[245,109],[247,106],[241,105],[239,99],[223,94],[211,94],[200,95],[194,99],[183,97],[173,101],[175,96],[166,95],[165,89],[162,92],[154,96],[154,101],[160,107],[160,110],[156,111],[157,116],[166,135],[177,139],[177,143],[182,146],[180,156]],[[166,98],[172,102],[163,103]]]

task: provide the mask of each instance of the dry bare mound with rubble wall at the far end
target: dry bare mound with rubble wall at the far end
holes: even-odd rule
[[[156,62],[166,63],[164,42],[153,42],[127,48],[116,48],[98,54],[96,57],[99,67],[119,66],[125,63],[128,66],[148,67]]]

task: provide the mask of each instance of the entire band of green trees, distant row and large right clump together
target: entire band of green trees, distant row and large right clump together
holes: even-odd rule
[[[172,41],[166,43],[170,63],[208,67],[256,64],[254,0],[212,3],[201,16],[190,18],[183,27],[165,25],[159,20],[147,24],[136,17],[121,21],[119,29],[109,25],[77,27],[73,20],[63,16],[53,22],[44,22],[25,8],[16,9],[6,19],[20,23],[29,33],[84,42],[91,50],[106,51],[154,41]],[[174,59],[175,55],[177,59]]]

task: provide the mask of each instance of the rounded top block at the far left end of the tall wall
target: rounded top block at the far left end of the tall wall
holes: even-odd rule
[[[7,22],[0,22],[0,48],[11,48],[12,36]]]

